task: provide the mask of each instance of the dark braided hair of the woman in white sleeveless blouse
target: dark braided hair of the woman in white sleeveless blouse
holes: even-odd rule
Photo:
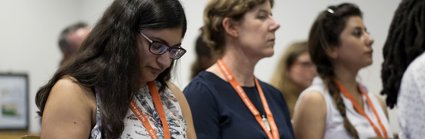
[[[354,126],[350,123],[346,115],[346,107],[336,86],[335,72],[327,50],[331,47],[337,47],[340,41],[340,34],[346,26],[350,17],[362,17],[360,9],[351,3],[343,3],[336,6],[329,6],[322,11],[313,23],[310,30],[308,47],[311,59],[316,64],[317,72],[323,79],[329,94],[341,116],[344,119],[344,127],[354,138],[359,138]]]

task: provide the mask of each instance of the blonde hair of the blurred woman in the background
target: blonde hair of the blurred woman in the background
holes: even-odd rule
[[[280,58],[271,80],[271,84],[279,89],[285,97],[291,117],[294,111],[295,102],[297,101],[301,91],[305,88],[297,85],[289,77],[289,69],[297,61],[297,58],[306,52],[308,53],[307,41],[292,43],[288,48],[286,48],[285,53]]]

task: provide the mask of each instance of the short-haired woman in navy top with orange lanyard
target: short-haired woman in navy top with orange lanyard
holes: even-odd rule
[[[274,53],[279,23],[273,0],[211,0],[203,38],[217,62],[184,89],[200,139],[292,139],[279,90],[258,80],[255,65]]]

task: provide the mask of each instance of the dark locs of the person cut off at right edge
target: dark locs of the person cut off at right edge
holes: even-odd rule
[[[382,95],[388,107],[397,104],[404,71],[425,51],[425,1],[403,0],[394,13],[384,44],[381,78]]]

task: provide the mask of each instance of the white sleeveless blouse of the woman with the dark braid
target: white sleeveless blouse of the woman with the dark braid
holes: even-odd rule
[[[366,88],[363,86],[363,89],[366,89]],[[299,105],[298,103],[300,103],[300,100],[302,100],[302,98],[306,94],[309,94],[312,92],[319,92],[325,98],[325,103],[326,103],[325,124],[326,125],[325,125],[325,131],[324,131],[325,133],[323,134],[323,138],[324,139],[352,138],[348,134],[347,130],[345,130],[344,124],[343,124],[343,118],[341,114],[339,113],[338,109],[336,108],[335,103],[333,102],[331,95],[329,95],[329,92],[326,89],[325,84],[323,83],[323,80],[321,78],[319,77],[314,78],[312,85],[301,93],[296,105]],[[367,138],[377,137],[375,131],[373,130],[373,127],[369,124],[367,119],[364,118],[362,115],[360,115],[358,112],[356,112],[353,104],[348,98],[346,98],[342,93],[340,94],[346,106],[346,114],[347,114],[348,120],[353,124],[354,128],[357,130],[359,134],[359,138],[367,139]],[[381,122],[384,125],[389,138],[393,138],[389,121],[387,117],[385,116],[385,113],[382,110],[382,106],[380,105],[376,96],[373,95],[372,93],[368,93],[367,95],[371,99],[372,104],[375,107],[378,113],[378,117],[381,119]],[[364,96],[362,97],[362,100],[364,104],[363,109],[365,110],[365,113],[369,116],[369,118],[373,121],[373,123],[375,123],[379,128],[378,122],[375,118],[375,114],[373,114],[372,109],[370,108],[370,106],[368,106],[368,103],[366,102],[366,98]],[[382,129],[379,128],[379,130],[382,130]]]

